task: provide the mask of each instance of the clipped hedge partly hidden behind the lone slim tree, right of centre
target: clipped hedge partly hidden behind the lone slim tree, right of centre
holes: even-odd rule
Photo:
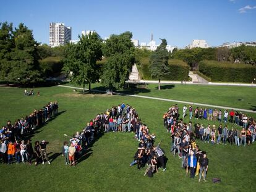
[[[163,78],[163,80],[176,80],[182,81],[187,80],[189,77],[189,65],[178,59],[170,59],[169,64],[169,74]],[[151,73],[149,70],[149,58],[144,57],[140,59],[140,65],[138,66],[140,77],[143,80],[152,80]]]

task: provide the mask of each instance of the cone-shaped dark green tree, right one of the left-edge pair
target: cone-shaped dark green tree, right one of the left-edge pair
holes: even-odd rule
[[[32,30],[29,30],[23,23],[12,32],[14,44],[9,62],[5,67],[8,71],[5,79],[14,83],[29,84],[36,83],[41,79],[38,64],[38,43],[33,38]]]

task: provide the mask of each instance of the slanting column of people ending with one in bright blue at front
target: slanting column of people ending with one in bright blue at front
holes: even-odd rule
[[[206,175],[208,170],[207,152],[202,151],[195,141],[192,134],[192,123],[188,125],[179,119],[179,107],[177,104],[171,106],[169,111],[164,114],[164,126],[171,133],[171,149],[173,156],[181,159],[181,168],[186,169],[186,174],[190,172],[190,177],[199,175],[198,182],[207,182]]]

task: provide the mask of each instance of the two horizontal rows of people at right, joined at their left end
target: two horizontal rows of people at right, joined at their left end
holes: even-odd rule
[[[204,109],[203,111],[205,111],[205,113],[202,113],[198,112],[202,111],[202,108],[199,110],[197,109],[199,108],[197,107],[194,112],[195,119],[208,119],[208,121],[218,120],[218,127],[210,124],[203,126],[203,124],[200,123],[192,125],[192,106],[189,106],[189,123],[183,122],[183,119],[187,115],[187,107],[183,107],[183,119],[179,119],[179,107],[177,105],[171,106],[169,111],[164,114],[164,127],[166,127],[166,130],[171,133],[173,133],[176,125],[182,128],[186,127],[190,136],[194,136],[195,139],[204,141],[205,143],[211,142],[212,144],[226,144],[228,141],[230,144],[235,143],[237,146],[240,146],[241,144],[245,146],[246,144],[250,145],[251,143],[254,143],[256,136],[256,122],[254,118],[248,118],[247,115],[242,114],[242,112],[230,111],[228,113],[228,111],[224,111],[224,119],[222,119],[221,115],[216,115],[217,112],[221,112],[220,110],[215,109],[212,112],[211,109]],[[201,116],[201,114],[203,115]],[[228,121],[230,123],[236,123],[236,128],[228,127],[228,125],[226,125]],[[241,130],[237,128],[238,125],[241,126]]]

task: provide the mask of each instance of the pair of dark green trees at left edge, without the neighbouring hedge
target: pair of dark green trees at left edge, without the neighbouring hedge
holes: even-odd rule
[[[12,29],[12,23],[0,23],[0,78],[14,83],[35,83],[41,80],[38,64],[38,43],[32,30],[23,23]]]

